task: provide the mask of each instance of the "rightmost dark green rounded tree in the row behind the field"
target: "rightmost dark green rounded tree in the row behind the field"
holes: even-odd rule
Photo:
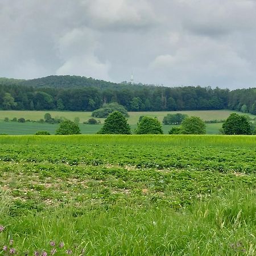
[[[224,134],[251,134],[251,125],[245,115],[232,113],[222,125]]]

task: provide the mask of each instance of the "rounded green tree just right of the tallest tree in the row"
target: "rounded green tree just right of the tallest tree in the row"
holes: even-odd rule
[[[163,134],[162,125],[157,118],[143,117],[135,129],[136,134]]]

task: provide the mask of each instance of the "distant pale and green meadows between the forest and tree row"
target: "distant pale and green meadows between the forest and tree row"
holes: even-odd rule
[[[25,134],[35,134],[36,131],[46,130],[51,134],[55,134],[55,131],[58,127],[57,124],[48,124],[48,123],[38,123],[38,122],[4,122],[3,119],[8,117],[10,120],[14,117],[16,118],[25,118],[34,121],[38,121],[39,119],[44,118],[44,114],[50,113],[53,118],[56,117],[65,117],[73,120],[75,117],[80,118],[80,129],[82,134],[96,134],[98,130],[102,127],[101,125],[84,125],[82,122],[87,121],[90,116],[90,112],[43,112],[43,111],[9,111],[9,110],[1,110],[0,111],[0,133],[1,134],[9,134],[9,135],[25,135]],[[130,117],[128,118],[128,122],[131,125],[131,130],[134,131],[137,126],[138,119],[141,115],[148,115],[150,117],[158,117],[160,121],[163,120],[163,117],[167,115],[167,113],[177,113],[177,112],[130,112]],[[179,112],[188,115],[196,115],[206,120],[213,119],[225,119],[231,113],[230,110],[209,110],[209,111],[184,111]],[[238,113],[238,112],[237,112]],[[242,113],[240,113],[242,114]],[[248,114],[251,118],[255,118],[254,115]],[[101,120],[101,123],[104,123],[104,118],[96,118]],[[222,123],[207,123],[207,134],[218,134],[219,129],[221,128]],[[164,134],[168,134],[168,131],[172,126],[163,125]]]

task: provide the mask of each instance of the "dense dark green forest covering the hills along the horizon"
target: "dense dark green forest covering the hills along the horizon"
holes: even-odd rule
[[[80,76],[32,80],[0,78],[2,110],[93,111],[110,102],[118,102],[128,111],[231,109],[256,114],[256,88],[170,88],[127,82],[116,84]]]

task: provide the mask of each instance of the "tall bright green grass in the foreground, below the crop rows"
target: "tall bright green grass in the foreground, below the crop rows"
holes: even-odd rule
[[[0,246],[11,234],[15,249],[28,255],[35,250],[49,252],[53,240],[65,244],[58,251],[71,249],[75,255],[84,250],[84,255],[252,256],[255,205],[255,191],[231,191],[180,212],[150,204],[135,207],[132,201],[98,208],[90,204],[79,211],[73,204],[27,216],[1,212],[0,225],[6,229],[0,233]]]

